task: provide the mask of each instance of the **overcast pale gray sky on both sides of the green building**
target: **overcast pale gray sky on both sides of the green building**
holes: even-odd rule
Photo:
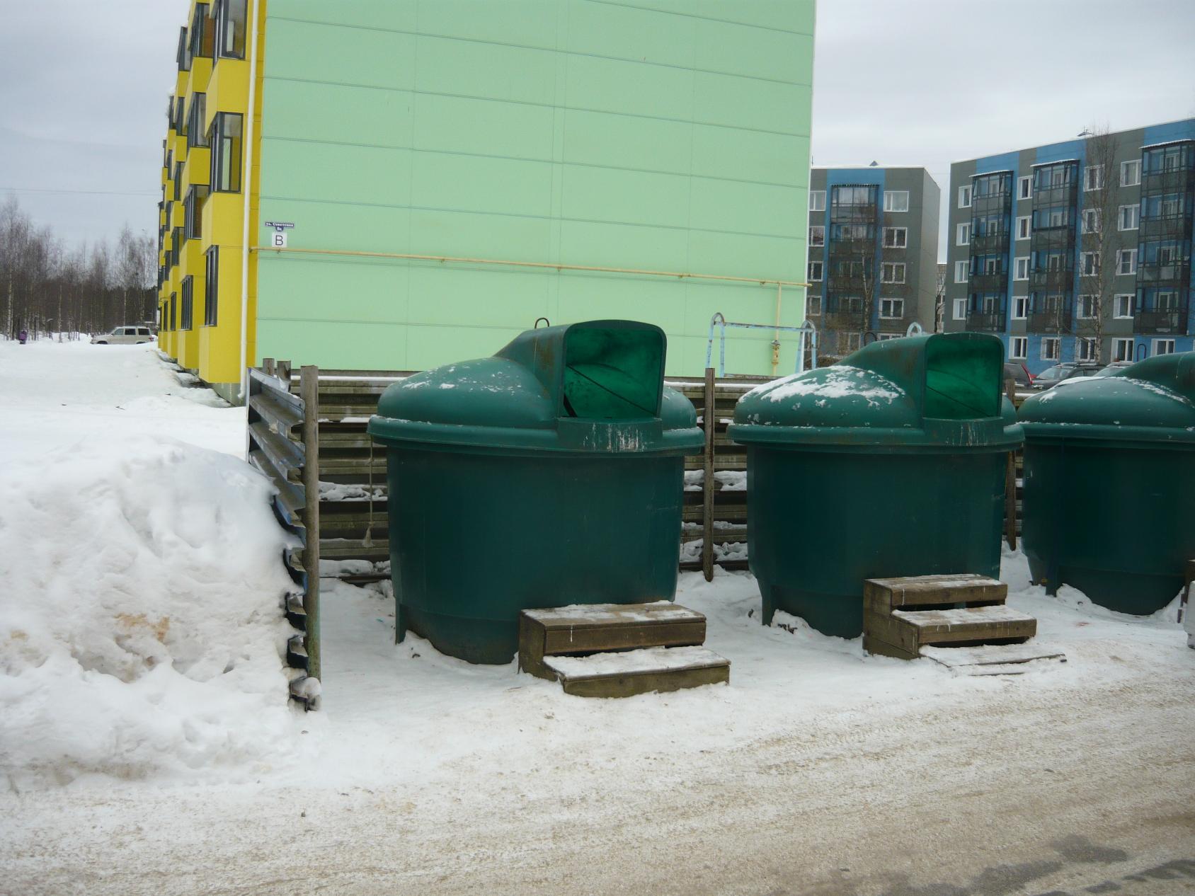
[[[155,232],[186,8],[0,0],[0,196],[71,243]],[[924,165],[945,198],[958,159],[1195,117],[1193,41],[1195,0],[821,0],[814,164]]]

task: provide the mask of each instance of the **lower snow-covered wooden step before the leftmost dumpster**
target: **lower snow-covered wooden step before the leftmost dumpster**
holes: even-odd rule
[[[698,646],[551,656],[544,663],[575,696],[635,696],[730,681],[730,661]]]

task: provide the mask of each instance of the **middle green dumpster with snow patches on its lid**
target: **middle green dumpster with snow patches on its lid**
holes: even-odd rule
[[[750,570],[764,599],[826,634],[863,631],[864,579],[998,576],[1007,452],[1021,444],[994,336],[875,342],[748,392]]]

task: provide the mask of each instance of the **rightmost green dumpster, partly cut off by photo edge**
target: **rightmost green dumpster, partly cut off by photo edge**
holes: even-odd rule
[[[1055,386],[1019,417],[1034,581],[1121,613],[1166,606],[1195,558],[1195,352]]]

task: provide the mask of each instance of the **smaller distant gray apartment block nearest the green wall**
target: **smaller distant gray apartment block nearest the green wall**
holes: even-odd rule
[[[815,167],[805,315],[822,355],[933,331],[942,191],[925,168]]]

